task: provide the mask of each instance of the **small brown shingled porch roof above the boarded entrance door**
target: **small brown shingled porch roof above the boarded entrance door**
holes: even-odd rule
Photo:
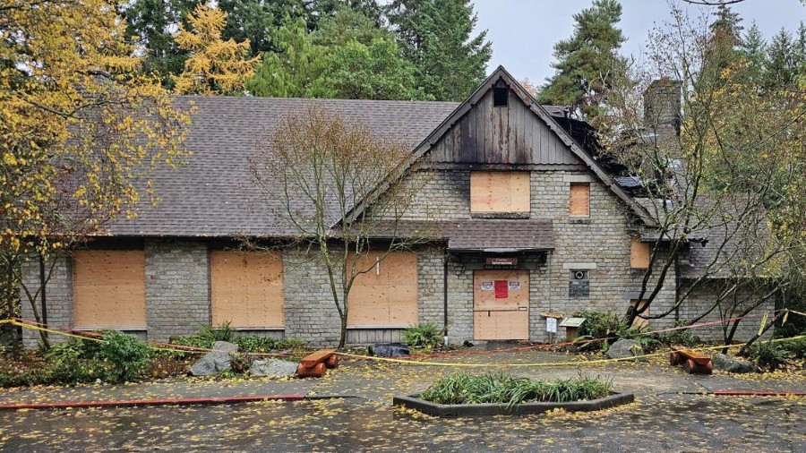
[[[446,227],[449,252],[544,252],[554,249],[551,220],[473,219]]]

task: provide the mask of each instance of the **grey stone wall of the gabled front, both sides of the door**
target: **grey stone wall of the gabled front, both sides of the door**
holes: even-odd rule
[[[570,183],[590,184],[589,218],[570,218]],[[407,218],[428,218],[438,213],[442,218],[471,218],[470,172],[440,171],[424,184]],[[553,221],[555,250],[548,266],[532,271],[530,286],[530,339],[548,341],[545,318],[540,312],[570,315],[582,310],[627,312],[630,299],[640,289],[644,272],[630,269],[630,243],[638,236],[627,207],[596,177],[585,172],[533,171],[531,173],[531,214],[533,219]],[[439,252],[420,253],[420,321],[442,326],[442,262]],[[571,269],[587,269],[590,295],[571,297]],[[650,313],[663,312],[674,301],[674,272],[653,302]],[[650,285],[650,287],[652,287]],[[434,291],[434,289],[436,289]],[[448,272],[449,340],[461,343],[473,339],[473,272],[456,275],[453,264]],[[652,320],[652,329],[673,325],[673,317]],[[564,337],[562,329],[558,331]]]

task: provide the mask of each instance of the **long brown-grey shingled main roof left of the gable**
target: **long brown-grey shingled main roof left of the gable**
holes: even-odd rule
[[[316,103],[373,132],[391,134],[412,148],[442,123],[456,102],[350,99],[180,96],[179,108],[195,112],[186,146],[193,155],[177,170],[161,167],[151,175],[160,199],[143,201],[137,218],[108,226],[110,235],[201,236],[293,235],[279,226],[273,208],[253,186],[247,159],[287,115]]]

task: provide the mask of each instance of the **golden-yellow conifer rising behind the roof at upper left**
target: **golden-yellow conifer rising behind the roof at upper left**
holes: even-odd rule
[[[244,90],[260,56],[248,58],[249,39],[236,43],[221,39],[227,13],[198,4],[187,20],[193,30],[180,24],[176,44],[192,53],[184,72],[176,77],[176,92],[183,94],[236,94]]]

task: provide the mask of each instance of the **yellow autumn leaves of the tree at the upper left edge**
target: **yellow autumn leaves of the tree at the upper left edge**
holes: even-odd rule
[[[49,252],[129,211],[177,162],[187,112],[124,39],[116,0],[0,0],[0,252]]]

